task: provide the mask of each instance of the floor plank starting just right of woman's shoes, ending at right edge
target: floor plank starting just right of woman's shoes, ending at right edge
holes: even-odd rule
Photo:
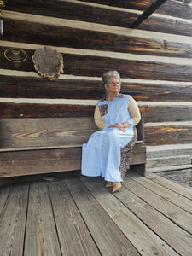
[[[138,183],[138,181],[134,180],[132,174],[128,173],[128,177],[125,178],[125,181],[126,179],[129,179],[129,187],[127,186],[127,189],[130,189],[133,194],[147,202],[151,207],[154,207],[156,210],[163,213],[167,218],[170,218],[173,223],[183,228],[183,230],[187,230],[192,234],[192,227],[190,224],[191,214],[189,212],[178,207],[177,203],[173,204],[171,201],[168,201],[166,196],[160,196],[154,190],[150,190],[144,183]]]

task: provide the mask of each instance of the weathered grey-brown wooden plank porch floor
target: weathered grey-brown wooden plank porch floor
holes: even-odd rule
[[[7,180],[6,180],[7,181]],[[0,187],[0,255],[192,255],[192,189],[129,173],[112,194],[80,175]]]

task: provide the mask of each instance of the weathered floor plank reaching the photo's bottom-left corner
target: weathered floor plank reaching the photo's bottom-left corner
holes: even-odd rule
[[[3,255],[22,255],[25,237],[28,184],[15,186],[0,218],[0,241]]]

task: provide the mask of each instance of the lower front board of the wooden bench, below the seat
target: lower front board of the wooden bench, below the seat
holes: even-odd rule
[[[80,170],[81,155],[81,147],[2,152],[0,177]],[[130,165],[143,163],[145,147],[138,143],[133,148]]]

